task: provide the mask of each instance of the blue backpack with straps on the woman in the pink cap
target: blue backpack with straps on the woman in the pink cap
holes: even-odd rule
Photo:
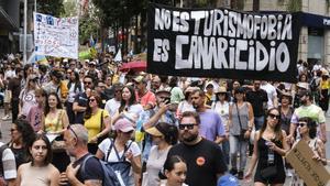
[[[118,153],[116,146],[113,145],[114,141],[112,141],[111,139],[110,139],[110,141],[111,141],[111,144],[110,144],[110,147],[108,150],[108,153],[107,153],[107,156],[105,157],[105,160],[107,161],[109,166],[111,166],[112,169],[114,171],[117,178],[120,182],[121,186],[130,186],[131,185],[131,180],[130,180],[131,179],[131,177],[130,177],[131,163],[125,160],[125,152],[130,149],[133,141],[131,141],[130,144],[124,147],[124,152],[122,153],[121,157],[119,156],[119,153]],[[109,154],[110,154],[112,147],[116,152],[118,162],[108,162]]]

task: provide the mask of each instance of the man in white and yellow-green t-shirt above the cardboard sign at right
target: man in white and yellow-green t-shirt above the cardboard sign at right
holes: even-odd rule
[[[315,103],[312,103],[312,94],[310,91],[302,91],[300,95],[301,106],[297,108],[292,118],[290,133],[287,140],[292,143],[295,140],[295,131],[297,129],[299,118],[311,118],[319,125],[318,136],[323,143],[327,142],[327,131],[326,131],[326,116],[322,109]]]

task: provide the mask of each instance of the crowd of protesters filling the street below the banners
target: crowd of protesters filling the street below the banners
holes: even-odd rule
[[[297,84],[119,69],[111,55],[50,58],[47,65],[6,56],[2,120],[13,124],[11,141],[0,147],[1,184],[102,185],[102,160],[122,168],[119,179],[127,186],[212,186],[244,178],[284,185],[287,176],[302,186],[284,163],[300,140],[315,161],[327,164],[330,79],[323,66],[299,61]]]

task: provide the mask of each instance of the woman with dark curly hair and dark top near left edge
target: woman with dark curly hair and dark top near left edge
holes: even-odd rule
[[[34,131],[26,120],[18,119],[10,129],[9,147],[15,156],[16,167],[30,161],[29,145],[34,140]]]

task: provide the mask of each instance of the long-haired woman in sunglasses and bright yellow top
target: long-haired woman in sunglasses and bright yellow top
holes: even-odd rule
[[[88,130],[88,151],[96,154],[98,144],[108,136],[111,130],[111,119],[108,111],[100,108],[101,98],[95,91],[88,100],[84,125]]]

